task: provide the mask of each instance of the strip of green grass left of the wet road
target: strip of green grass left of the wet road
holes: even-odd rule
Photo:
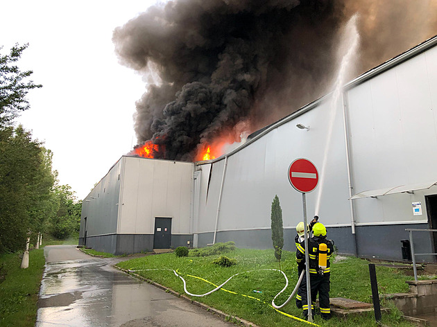
[[[35,326],[38,293],[44,272],[44,249],[29,252],[21,269],[19,254],[0,254],[0,326]]]

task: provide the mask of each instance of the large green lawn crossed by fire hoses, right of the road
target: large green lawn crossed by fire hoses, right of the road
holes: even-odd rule
[[[175,276],[173,269],[177,270],[178,274],[187,281],[187,290],[193,294],[209,292],[216,287],[214,285],[221,285],[230,276],[244,272],[232,278],[223,286],[223,289],[206,297],[191,297],[191,299],[222,310],[230,316],[247,319],[262,327],[306,325],[302,321],[286,317],[270,306],[273,297],[285,285],[284,276],[278,271],[271,270],[279,269],[273,249],[235,249],[230,251],[224,255],[237,260],[237,265],[232,267],[214,265],[212,261],[220,255],[194,256],[195,254],[196,251],[191,250],[188,257],[182,258],[178,258],[174,253],[145,256],[123,261],[118,266],[124,269],[137,270],[137,274],[144,276],[146,279],[151,279],[182,294],[185,293],[182,280]],[[282,253],[281,267],[289,279],[289,287],[277,297],[275,300],[276,305],[281,305],[288,299],[297,282],[297,265],[294,252],[284,251]],[[330,297],[345,297],[370,303],[371,290],[368,261],[358,258],[345,258],[345,260],[338,263],[332,263],[331,269]],[[408,285],[405,281],[411,280],[412,277],[401,274],[396,269],[378,266],[377,279],[380,293],[395,293],[406,292]],[[254,290],[261,293],[253,292]],[[294,300],[291,300],[281,310],[286,314],[302,318],[302,310],[295,307]],[[346,326],[346,324],[347,326],[375,326],[375,317],[372,313],[351,318],[345,322],[335,317],[329,321],[323,321],[319,315],[316,315],[314,322],[320,326]],[[400,319],[398,310],[393,310],[389,315],[383,315],[382,322],[387,326],[413,326]]]

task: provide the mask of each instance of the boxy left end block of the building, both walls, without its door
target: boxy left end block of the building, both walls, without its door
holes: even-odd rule
[[[187,245],[193,171],[187,162],[121,157],[84,200],[80,244],[113,254],[151,251],[155,218],[171,218],[171,245]]]

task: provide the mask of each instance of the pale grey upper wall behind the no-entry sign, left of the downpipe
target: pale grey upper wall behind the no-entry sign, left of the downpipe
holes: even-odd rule
[[[295,227],[303,218],[302,194],[289,184],[287,174],[291,162],[300,157],[311,160],[319,173],[324,162],[326,165],[323,191],[319,185],[316,191],[307,194],[308,217],[314,215],[320,193],[320,221],[327,225],[350,224],[343,118],[339,107],[333,110],[332,127],[329,124],[332,111],[328,100],[228,158],[218,231],[269,229],[271,203],[275,195],[280,197],[284,227]],[[299,130],[295,126],[297,123],[309,125],[310,130]],[[332,139],[327,144],[329,130],[332,130]],[[324,161],[327,147],[327,160]],[[222,167],[224,161],[222,159],[213,164],[211,186],[214,188],[219,188],[223,173],[223,168],[216,168]],[[200,167],[207,168],[205,166]],[[209,192],[212,191],[211,186]],[[205,189],[201,191],[202,194],[204,192]],[[212,211],[215,210],[216,207],[200,203],[200,230],[205,231],[203,221],[213,221]]]

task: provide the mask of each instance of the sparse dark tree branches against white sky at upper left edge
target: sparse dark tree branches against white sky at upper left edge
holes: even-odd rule
[[[10,124],[19,112],[29,108],[26,100],[29,90],[42,87],[32,80],[25,81],[33,71],[20,71],[15,65],[27,47],[28,44],[15,44],[9,55],[0,55],[0,126]]]

